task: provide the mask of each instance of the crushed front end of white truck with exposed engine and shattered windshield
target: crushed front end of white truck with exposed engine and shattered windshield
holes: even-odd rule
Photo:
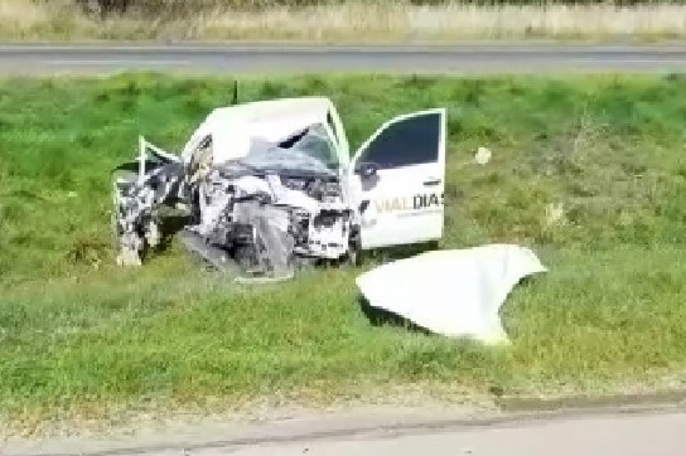
[[[187,163],[141,140],[137,172],[133,163],[120,167],[114,182],[119,264],[141,265],[145,248],[159,245],[161,207],[185,210],[185,247],[217,269],[238,267],[241,276],[290,278],[313,262],[354,262],[355,214],[317,127],[285,143],[251,138],[248,154],[219,164],[212,136]]]

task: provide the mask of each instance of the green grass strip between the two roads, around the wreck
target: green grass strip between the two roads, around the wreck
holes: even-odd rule
[[[353,145],[390,116],[447,107],[444,247],[518,242],[550,270],[507,301],[509,349],[373,327],[356,271],[234,287],[175,244],[142,269],[115,267],[110,168],[141,133],[179,147],[231,87],[159,74],[0,82],[0,413],[12,422],[412,385],[448,396],[680,385],[683,76],[241,81],[243,100],[331,96]],[[465,165],[480,145],[492,163]],[[549,225],[556,203],[565,219]]]

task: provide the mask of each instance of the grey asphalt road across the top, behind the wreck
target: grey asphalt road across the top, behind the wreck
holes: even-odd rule
[[[686,72],[686,45],[2,45],[3,74]]]

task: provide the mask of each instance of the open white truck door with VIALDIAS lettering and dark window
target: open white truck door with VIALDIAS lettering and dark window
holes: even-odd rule
[[[407,245],[443,236],[446,112],[413,112],[383,124],[350,163],[361,215],[360,247]]]

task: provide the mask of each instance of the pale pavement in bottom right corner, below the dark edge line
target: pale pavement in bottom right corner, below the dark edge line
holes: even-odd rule
[[[212,449],[192,456],[681,456],[684,429],[686,415],[598,418],[395,438]]]

